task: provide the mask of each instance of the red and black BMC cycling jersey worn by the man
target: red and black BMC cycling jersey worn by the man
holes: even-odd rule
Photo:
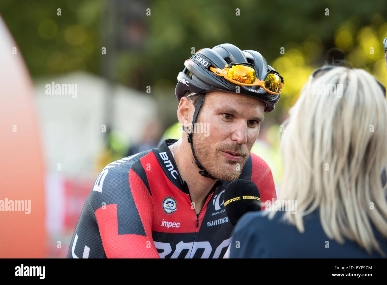
[[[233,226],[216,181],[200,214],[190,199],[168,145],[108,164],[98,175],[80,214],[67,258],[219,258]],[[269,166],[250,153],[239,179],[253,181],[261,200],[276,199]]]

